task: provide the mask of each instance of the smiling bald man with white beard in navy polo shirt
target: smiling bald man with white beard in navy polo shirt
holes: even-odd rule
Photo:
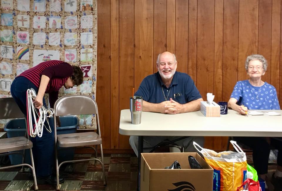
[[[190,76],[176,71],[175,55],[170,52],[159,54],[156,66],[158,72],[144,78],[135,93],[135,96],[143,97],[143,111],[177,114],[200,110],[202,96]],[[183,123],[187,123],[189,128],[189,121]],[[163,140],[176,138],[178,137],[144,136],[143,148],[150,148]],[[185,152],[195,152],[193,141],[204,145],[203,137],[188,137],[175,143],[184,147]],[[138,136],[130,136],[129,143],[138,156]]]

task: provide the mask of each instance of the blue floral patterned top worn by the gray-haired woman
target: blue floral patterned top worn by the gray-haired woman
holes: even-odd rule
[[[249,80],[238,81],[230,98],[235,98],[238,105],[248,109],[280,109],[274,86],[265,82],[262,86],[252,86]]]

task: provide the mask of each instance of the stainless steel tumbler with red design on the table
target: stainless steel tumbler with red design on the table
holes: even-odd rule
[[[141,96],[130,97],[130,112],[132,124],[141,123],[142,102],[143,98]]]

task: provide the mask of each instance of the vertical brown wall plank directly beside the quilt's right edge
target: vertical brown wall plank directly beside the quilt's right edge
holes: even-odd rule
[[[98,1],[97,90],[96,100],[103,148],[110,148],[110,0]],[[107,95],[107,96],[106,96]]]

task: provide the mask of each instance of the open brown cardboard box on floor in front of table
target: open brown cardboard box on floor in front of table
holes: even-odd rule
[[[196,158],[204,169],[191,169],[188,156]],[[164,169],[178,160],[181,169]],[[198,153],[142,153],[141,191],[212,191],[213,172]]]

